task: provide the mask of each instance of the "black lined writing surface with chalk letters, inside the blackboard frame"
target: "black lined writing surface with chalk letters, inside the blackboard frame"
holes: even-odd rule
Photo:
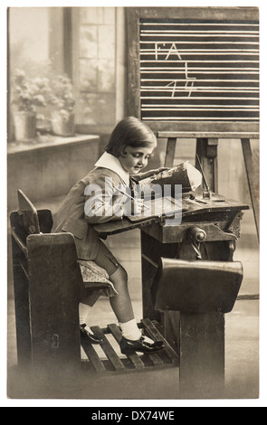
[[[259,24],[140,21],[144,120],[259,119]]]

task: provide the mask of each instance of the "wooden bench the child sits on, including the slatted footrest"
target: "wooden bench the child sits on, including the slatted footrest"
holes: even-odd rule
[[[92,332],[103,338],[101,345],[91,345],[81,337],[81,299],[109,285],[83,282],[72,234],[51,233],[51,211],[37,211],[20,190],[18,200],[19,210],[10,215],[18,364],[42,364],[50,369],[76,364],[97,373],[177,365],[178,356],[167,341],[160,354],[120,354],[121,333],[115,324],[104,329],[91,326]],[[150,320],[144,319],[138,326],[150,338],[164,339]]]

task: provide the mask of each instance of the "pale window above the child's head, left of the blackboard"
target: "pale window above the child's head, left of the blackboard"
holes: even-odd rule
[[[116,8],[72,8],[76,123],[110,131],[116,120]]]

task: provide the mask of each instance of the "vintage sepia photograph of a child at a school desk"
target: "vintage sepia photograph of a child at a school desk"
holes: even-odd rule
[[[6,397],[258,400],[261,10],[83,3],[5,8]]]

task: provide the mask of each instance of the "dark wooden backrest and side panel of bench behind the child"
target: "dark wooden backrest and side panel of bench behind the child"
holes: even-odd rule
[[[51,233],[52,213],[18,190],[10,214],[18,364],[80,364],[79,302],[84,297],[72,234]]]

